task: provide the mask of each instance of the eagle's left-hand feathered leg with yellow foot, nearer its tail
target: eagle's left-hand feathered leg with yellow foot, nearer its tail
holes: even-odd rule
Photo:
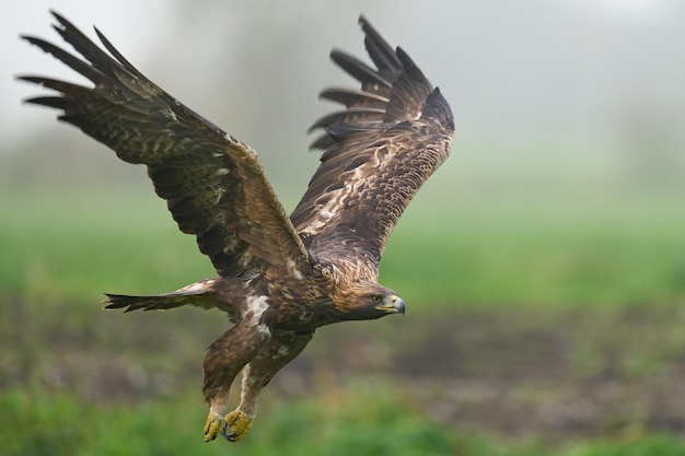
[[[229,417],[228,400],[231,385],[239,372],[252,361],[271,337],[265,325],[242,320],[225,331],[207,350],[202,395],[209,402],[205,423],[205,442],[212,441],[222,431]]]

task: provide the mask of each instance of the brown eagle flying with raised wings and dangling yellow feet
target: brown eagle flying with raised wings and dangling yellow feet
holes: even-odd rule
[[[372,65],[330,52],[360,85],[321,92],[344,107],[312,126],[310,131],[322,130],[312,143],[323,150],[321,164],[288,217],[249,145],[147,79],[96,27],[106,51],[51,13],[54,28],[78,54],[39,37],[21,38],[93,86],[22,75],[55,91],[26,102],[58,109],[59,120],[123,161],[144,164],[181,231],[195,235],[217,270],[172,293],[105,294],[105,308],[225,312],[232,326],[204,361],[204,432],[206,442],[218,434],[240,441],[262,389],[318,327],[405,313],[404,301],[379,283],[379,262],[403,211],[449,156],[450,106],[404,50],[360,16]],[[229,412],[229,390],[241,372],[240,404]]]

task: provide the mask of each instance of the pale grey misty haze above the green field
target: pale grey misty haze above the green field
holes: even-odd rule
[[[149,188],[142,169],[58,126],[53,112],[20,105],[40,91],[12,75],[79,80],[18,39],[57,43],[49,8],[91,36],[96,24],[144,74],[253,145],[288,201],[317,163],[305,152],[305,130],[332,107],[316,94],[353,84],[327,55],[332,47],[363,55],[360,12],[452,105],[455,156],[426,191],[596,202],[630,198],[628,189],[673,196],[685,187],[685,4],[675,0],[72,0],[16,3],[0,19],[5,197],[115,182]]]

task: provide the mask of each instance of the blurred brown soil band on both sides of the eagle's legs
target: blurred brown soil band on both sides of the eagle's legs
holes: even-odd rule
[[[173,395],[188,384],[199,400],[202,350],[227,328],[195,309],[94,311],[65,325],[61,311],[39,323],[18,301],[7,304],[13,324],[0,339],[12,349],[0,355],[0,387],[69,389],[105,402]],[[317,332],[268,394],[288,400],[359,381],[392,385],[455,429],[504,437],[685,435],[685,309],[445,306],[334,325]]]

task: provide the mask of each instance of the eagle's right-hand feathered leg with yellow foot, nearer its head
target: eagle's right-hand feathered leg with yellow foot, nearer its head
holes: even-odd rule
[[[243,370],[241,404],[225,417],[221,433],[231,442],[245,436],[257,414],[257,398],[274,375],[292,361],[312,340],[312,332],[275,334]],[[229,429],[230,428],[230,429]]]

